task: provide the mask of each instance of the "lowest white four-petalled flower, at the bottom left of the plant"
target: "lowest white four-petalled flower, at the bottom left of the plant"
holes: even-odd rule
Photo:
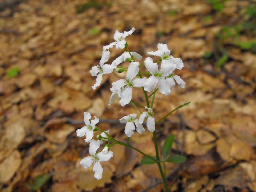
[[[108,161],[111,157],[113,157],[113,152],[108,151],[100,152],[96,154],[96,151],[100,148],[100,141],[91,140],[91,143],[89,145],[89,153],[91,156],[85,157],[80,161],[80,165],[84,166],[85,169],[89,168],[92,163],[93,164],[93,171],[94,171],[94,177],[96,179],[101,179],[103,168],[100,164],[100,161]]]

